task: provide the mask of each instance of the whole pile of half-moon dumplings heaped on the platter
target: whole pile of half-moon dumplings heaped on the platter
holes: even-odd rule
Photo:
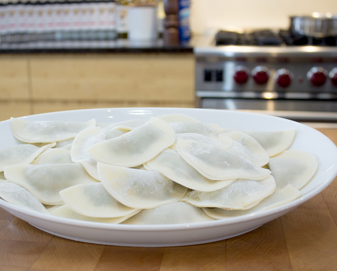
[[[246,131],[183,114],[118,123],[11,118],[20,145],[0,150],[0,197],[50,216],[179,224],[288,203],[317,169],[287,150],[295,129]]]

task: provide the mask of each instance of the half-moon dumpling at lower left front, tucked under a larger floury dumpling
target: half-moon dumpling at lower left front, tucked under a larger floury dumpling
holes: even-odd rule
[[[136,211],[114,199],[102,183],[80,184],[60,191],[69,208],[87,217],[123,217]]]

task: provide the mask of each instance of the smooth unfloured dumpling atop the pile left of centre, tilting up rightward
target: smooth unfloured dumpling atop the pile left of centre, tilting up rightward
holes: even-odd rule
[[[149,161],[175,140],[171,126],[161,119],[154,119],[117,138],[99,142],[87,151],[97,161],[133,167]]]

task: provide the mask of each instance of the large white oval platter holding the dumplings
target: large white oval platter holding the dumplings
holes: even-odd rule
[[[202,122],[217,123],[223,128],[277,131],[296,128],[289,149],[315,155],[318,169],[301,189],[302,196],[266,211],[222,220],[191,224],[125,225],[72,220],[44,215],[0,199],[0,207],[31,225],[64,238],[95,244],[121,246],[179,246],[201,244],[237,236],[272,221],[323,191],[337,176],[337,147],[324,134],[298,122],[273,116],[226,110],[192,108],[104,108],[62,111],[21,117],[35,120],[119,122],[128,119],[148,120],[152,116],[182,113]],[[11,133],[9,120],[0,122],[0,149],[20,144]]]

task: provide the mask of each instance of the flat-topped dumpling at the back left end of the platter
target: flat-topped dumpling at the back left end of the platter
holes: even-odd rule
[[[28,143],[59,142],[74,138],[80,131],[95,127],[96,120],[74,121],[27,121],[10,118],[10,127],[14,137]]]

